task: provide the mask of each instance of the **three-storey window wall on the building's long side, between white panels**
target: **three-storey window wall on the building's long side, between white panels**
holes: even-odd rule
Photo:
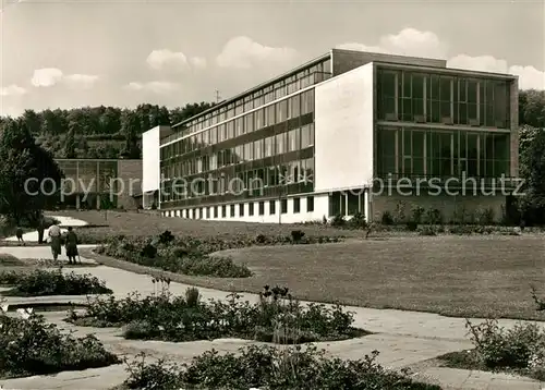
[[[162,207],[227,202],[240,197],[311,192],[314,173],[314,90],[310,89],[229,123],[161,147]],[[245,124],[252,123],[251,127]],[[205,143],[217,132],[218,143]],[[222,139],[222,141],[219,141]],[[193,187],[174,192],[184,178]]]

